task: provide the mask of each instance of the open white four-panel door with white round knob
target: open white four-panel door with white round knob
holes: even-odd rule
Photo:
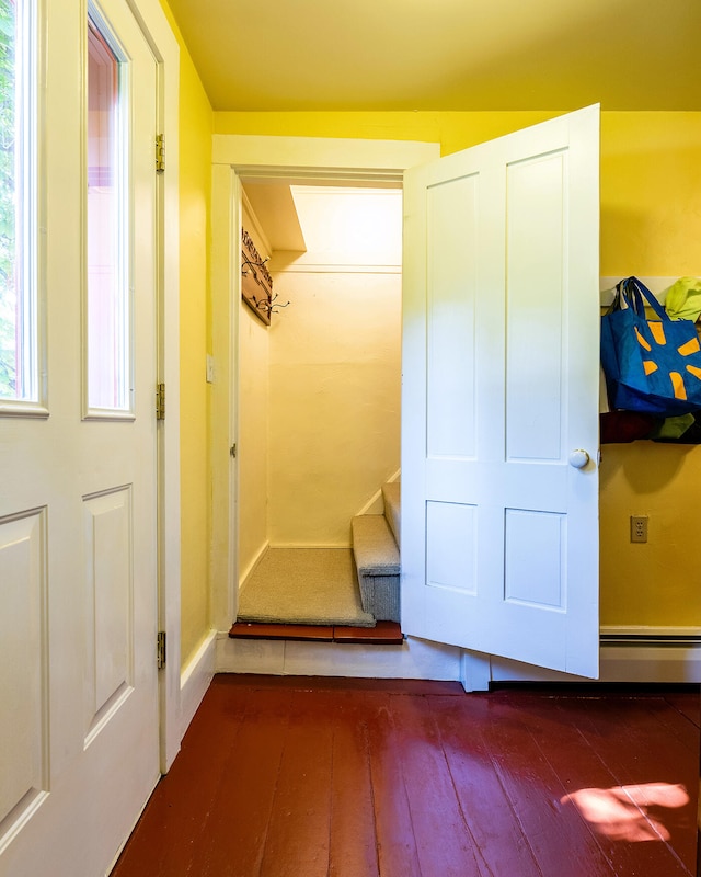
[[[598,675],[599,107],[405,173],[402,629]]]

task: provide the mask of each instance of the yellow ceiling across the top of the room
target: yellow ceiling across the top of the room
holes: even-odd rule
[[[168,0],[215,110],[701,110],[701,0]]]

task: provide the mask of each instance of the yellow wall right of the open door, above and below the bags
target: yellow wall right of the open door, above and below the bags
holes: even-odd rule
[[[701,276],[701,113],[605,113],[602,145],[601,274]],[[701,448],[601,451],[602,623],[701,625]],[[631,514],[650,516],[646,545],[631,545]]]

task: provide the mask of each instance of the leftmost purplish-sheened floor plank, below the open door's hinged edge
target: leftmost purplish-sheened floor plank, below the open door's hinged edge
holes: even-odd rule
[[[429,697],[391,696],[401,728],[398,752],[403,765],[421,872],[441,877],[483,877],[480,850],[456,794]]]

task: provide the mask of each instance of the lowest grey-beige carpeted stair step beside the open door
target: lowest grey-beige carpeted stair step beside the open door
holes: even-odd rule
[[[350,522],[363,608],[378,620],[399,622],[399,549],[383,514]]]

